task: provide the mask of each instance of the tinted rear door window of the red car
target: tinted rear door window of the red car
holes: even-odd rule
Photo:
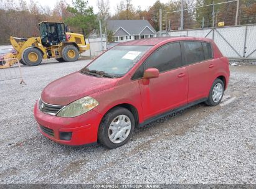
[[[184,41],[184,48],[187,64],[205,60],[201,42]]]

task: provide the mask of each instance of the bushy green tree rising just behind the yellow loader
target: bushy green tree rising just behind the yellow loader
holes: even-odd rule
[[[85,30],[89,34],[93,29],[98,28],[97,16],[93,13],[93,7],[88,6],[85,0],[72,1],[73,6],[68,6],[67,10],[71,13],[71,17],[67,17],[64,21],[73,26],[75,29]]]

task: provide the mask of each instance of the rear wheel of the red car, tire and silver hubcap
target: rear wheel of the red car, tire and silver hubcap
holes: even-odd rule
[[[224,83],[220,79],[216,79],[212,84],[206,104],[208,106],[217,106],[224,94]]]

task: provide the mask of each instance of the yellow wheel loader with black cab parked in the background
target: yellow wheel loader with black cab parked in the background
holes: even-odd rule
[[[64,22],[40,22],[40,37],[10,37],[12,47],[16,50],[12,58],[28,66],[37,66],[43,59],[55,58],[59,62],[73,62],[79,54],[90,49],[85,36],[67,32]],[[6,58],[10,55],[8,54]],[[11,66],[14,62],[7,63]],[[4,65],[0,65],[0,68]]]

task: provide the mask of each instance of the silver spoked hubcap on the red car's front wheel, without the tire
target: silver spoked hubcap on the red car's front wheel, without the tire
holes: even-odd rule
[[[118,144],[129,136],[131,132],[131,121],[128,116],[120,115],[117,116],[110,123],[108,128],[108,138],[111,142]]]

